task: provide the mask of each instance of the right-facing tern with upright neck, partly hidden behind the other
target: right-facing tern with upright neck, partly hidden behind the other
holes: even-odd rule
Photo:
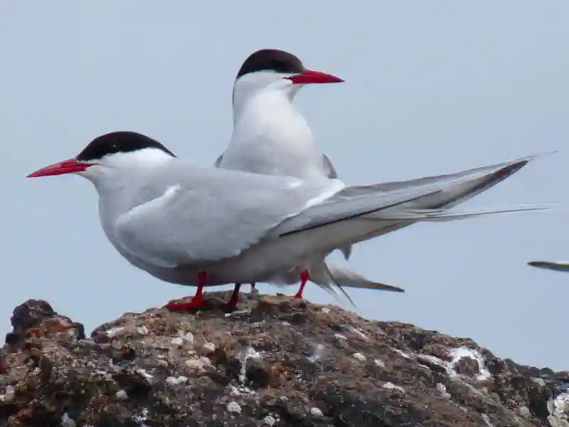
[[[312,130],[292,101],[304,85],[341,83],[335,75],[309,70],[297,57],[278,49],[262,49],[248,56],[233,85],[233,135],[216,167],[300,179],[337,177],[330,159],[321,152]],[[351,246],[340,248],[346,259]],[[403,289],[364,278],[348,268],[316,258],[304,260],[309,268],[281,272],[269,281],[292,285],[301,280],[295,297],[302,298],[308,280],[339,299],[342,286],[404,292]],[[254,285],[252,285],[254,286]],[[351,301],[349,295],[344,295]]]

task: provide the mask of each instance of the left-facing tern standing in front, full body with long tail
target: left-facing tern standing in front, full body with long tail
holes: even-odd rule
[[[103,231],[129,263],[170,283],[198,287],[186,310],[203,304],[203,287],[255,283],[294,270],[315,254],[370,236],[385,223],[467,218],[548,209],[515,206],[451,212],[533,157],[455,174],[370,186],[201,167],[176,158],[136,132],[97,137],[73,159],[28,177],[78,174],[99,194]],[[305,267],[306,268],[306,267]],[[238,287],[229,302],[238,301]]]

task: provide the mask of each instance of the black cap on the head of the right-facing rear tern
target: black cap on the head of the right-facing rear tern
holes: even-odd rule
[[[283,74],[302,73],[305,68],[302,61],[292,53],[279,51],[278,49],[261,49],[245,59],[237,73],[235,80],[242,75],[255,73],[256,71],[275,71]]]

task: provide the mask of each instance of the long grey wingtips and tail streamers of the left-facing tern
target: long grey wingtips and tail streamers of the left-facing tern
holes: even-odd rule
[[[449,221],[499,212],[549,209],[545,205],[531,204],[501,209],[464,210],[457,213],[447,210],[503,181],[535,157],[523,157],[454,174],[370,186],[349,186],[324,203],[285,221],[275,231],[285,236],[353,218],[402,222]],[[404,226],[405,223],[400,225]],[[390,228],[397,226],[398,224],[389,224]],[[378,232],[374,227],[381,229],[379,225],[372,225],[371,234],[366,236]]]

